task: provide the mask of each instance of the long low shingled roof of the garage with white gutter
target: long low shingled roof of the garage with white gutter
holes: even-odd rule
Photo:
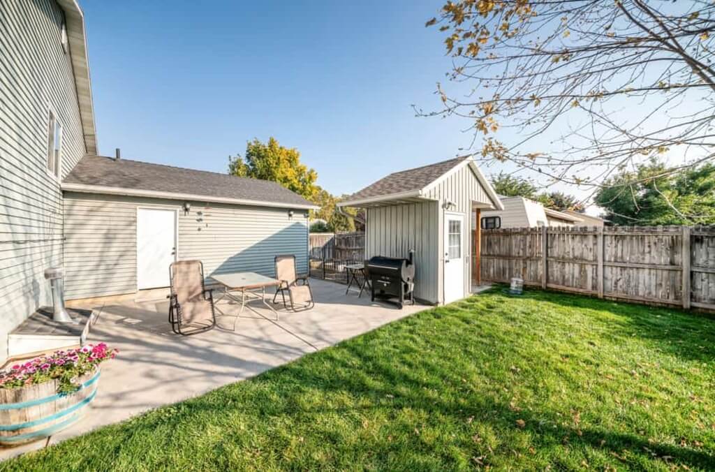
[[[268,180],[89,155],[65,177],[62,190],[262,207],[318,208],[297,193]]]

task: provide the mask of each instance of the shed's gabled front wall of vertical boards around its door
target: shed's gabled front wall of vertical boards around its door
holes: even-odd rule
[[[444,212],[442,204],[446,200],[453,202],[455,205],[450,207],[448,212],[463,213],[464,225],[463,228],[463,255],[465,260],[464,265],[464,294],[467,295],[471,291],[472,277],[471,265],[472,258],[472,241],[470,235],[470,222],[472,220],[472,204],[480,203],[493,205],[484,188],[477,179],[476,174],[469,165],[465,165],[456,172],[448,174],[443,178],[438,185],[431,187],[425,194],[425,197],[437,200],[438,205],[438,300],[444,300]]]

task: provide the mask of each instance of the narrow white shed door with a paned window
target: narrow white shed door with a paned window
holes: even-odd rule
[[[445,303],[464,298],[464,215],[445,213]]]

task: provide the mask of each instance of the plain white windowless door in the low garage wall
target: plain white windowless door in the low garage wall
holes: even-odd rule
[[[176,254],[176,212],[137,208],[137,288],[169,286]]]

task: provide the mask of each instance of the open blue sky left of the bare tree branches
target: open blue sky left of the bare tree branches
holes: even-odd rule
[[[438,107],[450,67],[428,1],[84,1],[100,152],[225,172],[254,137],[340,195],[468,145]]]

